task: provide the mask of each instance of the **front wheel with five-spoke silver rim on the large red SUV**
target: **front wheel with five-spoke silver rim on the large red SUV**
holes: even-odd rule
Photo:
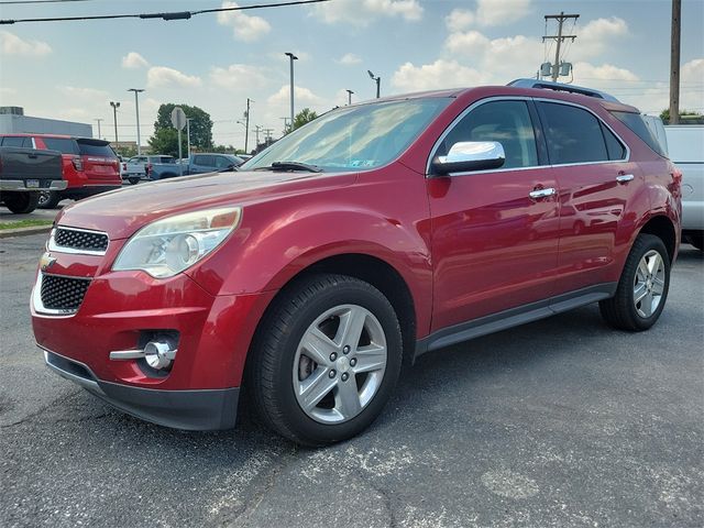
[[[301,279],[257,329],[245,380],[254,413],[302,446],[354,437],[393,394],[402,343],[394,308],[372,285],[344,275]]]

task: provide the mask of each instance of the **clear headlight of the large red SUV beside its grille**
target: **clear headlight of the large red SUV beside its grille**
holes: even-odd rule
[[[241,208],[229,207],[157,220],[132,235],[112,270],[142,270],[156,278],[173,277],[218,248],[241,218]]]

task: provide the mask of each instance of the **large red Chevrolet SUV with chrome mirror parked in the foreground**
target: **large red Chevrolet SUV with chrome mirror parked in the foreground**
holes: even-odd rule
[[[638,110],[593,90],[343,107],[238,173],[64,209],[34,333],[52,370],[140,418],[231,427],[244,389],[275,431],[326,444],[425,352],[596,301],[613,327],[651,327],[680,179]]]

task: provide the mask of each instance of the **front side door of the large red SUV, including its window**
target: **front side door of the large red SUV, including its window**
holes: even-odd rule
[[[506,161],[493,170],[429,175],[432,331],[544,299],[554,290],[558,184],[547,166],[532,102],[475,103],[432,155],[466,141],[498,141]]]

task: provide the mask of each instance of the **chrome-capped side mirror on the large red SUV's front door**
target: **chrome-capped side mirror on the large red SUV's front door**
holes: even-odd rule
[[[438,175],[447,176],[451,173],[498,168],[505,161],[504,146],[499,142],[465,141],[452,145],[447,156],[436,156],[432,169]]]

